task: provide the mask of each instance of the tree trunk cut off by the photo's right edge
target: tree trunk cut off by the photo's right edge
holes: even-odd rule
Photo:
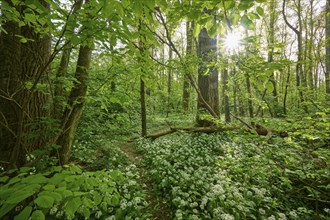
[[[330,99],[330,0],[327,0],[326,5],[326,72],[325,72],[325,91]]]

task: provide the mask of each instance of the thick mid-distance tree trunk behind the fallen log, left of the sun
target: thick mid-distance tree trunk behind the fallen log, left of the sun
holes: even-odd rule
[[[216,58],[214,54],[217,49],[216,38],[211,38],[206,29],[203,28],[198,36],[198,57],[201,63],[198,68],[198,94],[197,109],[199,113],[207,110],[202,101],[204,99],[212,108],[216,115],[219,115],[219,95],[218,95],[218,70],[216,67],[208,67]],[[197,123],[200,123],[199,113],[197,114]]]

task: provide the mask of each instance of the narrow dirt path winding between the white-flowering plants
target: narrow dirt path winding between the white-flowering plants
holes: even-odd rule
[[[125,152],[128,156],[128,160],[135,164],[139,170],[140,184],[145,186],[144,190],[147,194],[147,202],[149,203],[149,211],[152,214],[152,219],[155,220],[169,220],[171,219],[171,210],[169,205],[163,200],[161,195],[158,195],[153,190],[153,184],[148,176],[145,165],[143,164],[143,155],[138,153],[135,148],[134,142],[127,142],[120,147],[120,149]]]

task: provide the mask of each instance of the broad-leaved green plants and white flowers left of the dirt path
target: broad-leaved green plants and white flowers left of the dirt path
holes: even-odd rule
[[[144,193],[136,169],[84,172],[79,166],[51,167],[35,173],[21,168],[9,178],[2,174],[0,218],[116,219],[144,216]],[[15,216],[15,217],[14,217]]]

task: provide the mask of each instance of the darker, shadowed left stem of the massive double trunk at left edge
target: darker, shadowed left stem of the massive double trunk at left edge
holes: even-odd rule
[[[10,4],[10,1],[6,2]],[[1,166],[9,167],[8,159],[18,141],[18,115],[22,111],[18,96],[14,95],[22,87],[19,65],[21,43],[17,37],[21,35],[21,30],[14,21],[6,21],[2,28],[8,34],[1,32],[0,35],[0,159]]]

